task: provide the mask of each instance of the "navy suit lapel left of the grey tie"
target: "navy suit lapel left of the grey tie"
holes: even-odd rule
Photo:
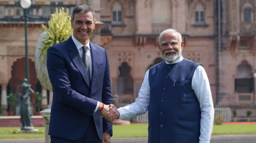
[[[81,59],[81,56],[76,48],[75,43],[72,40],[72,37],[70,36],[69,39],[67,40],[67,44],[68,44],[68,50],[70,50],[71,52],[69,53],[70,58],[73,60],[74,64],[76,65],[76,67],[78,68],[78,70],[81,72],[83,79],[85,80],[86,84],[88,85],[88,87],[90,88],[90,84],[89,84],[89,78],[87,76],[83,61]]]

